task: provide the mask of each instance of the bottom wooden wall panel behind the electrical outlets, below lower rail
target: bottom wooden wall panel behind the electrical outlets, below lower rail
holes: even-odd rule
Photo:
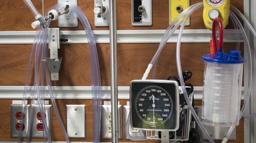
[[[105,100],[104,100],[105,101]],[[119,100],[120,105],[126,105],[128,100]],[[28,100],[28,103],[31,101]],[[49,101],[49,104],[52,102]],[[86,105],[86,139],[70,139],[72,142],[92,142],[92,101],[91,100],[74,100],[74,99],[56,99],[56,103],[60,112],[60,117],[66,127],[66,104],[85,104]],[[243,105],[241,102],[241,107]],[[0,141],[17,141],[17,138],[10,138],[10,104],[12,99],[0,99]],[[103,104],[103,101],[102,101]],[[195,101],[196,106],[202,105],[202,100]],[[123,111],[123,139],[119,142],[134,142],[131,140],[125,140],[124,134],[124,108]],[[230,143],[244,143],[244,118],[241,118],[239,126],[236,127],[236,141],[229,141]],[[101,138],[101,137],[100,137]],[[25,140],[24,140],[25,141]],[[43,141],[42,139],[31,139],[31,141]],[[55,112],[52,108],[52,141],[65,141],[63,133],[60,129],[60,125],[57,121]],[[111,142],[111,139],[100,139],[100,142]],[[143,143],[160,143],[161,141],[156,140],[145,140],[140,141]],[[215,143],[221,143],[221,141],[215,141]]]

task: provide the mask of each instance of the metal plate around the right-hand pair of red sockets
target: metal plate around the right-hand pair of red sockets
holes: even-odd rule
[[[46,123],[49,128],[50,134],[52,132],[52,105],[44,105],[45,107],[45,114],[46,114]],[[34,110],[33,110],[33,123],[32,123],[32,128],[31,128],[31,138],[43,138],[43,131],[37,131],[36,125],[38,123],[43,123],[42,120],[38,120],[36,118],[37,112],[40,112],[39,105],[35,104],[34,105]]]

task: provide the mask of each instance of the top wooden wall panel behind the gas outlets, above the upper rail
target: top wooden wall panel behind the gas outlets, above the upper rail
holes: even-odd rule
[[[33,0],[33,4],[39,13],[42,14],[42,0]],[[202,2],[202,0],[191,0],[191,5]],[[48,11],[57,0],[44,0],[44,13]],[[243,0],[231,0],[230,2],[241,12],[244,11]],[[117,30],[165,30],[169,26],[169,1],[153,1],[153,25],[152,26],[132,26],[132,8],[131,0],[116,0],[116,24]],[[2,0],[1,17],[0,17],[0,31],[36,31],[31,27],[34,22],[34,17],[29,11],[28,7],[22,0],[4,1]],[[94,4],[93,0],[78,0],[78,6],[86,14],[92,30],[108,30],[108,27],[94,26]],[[203,23],[203,8],[195,11],[191,15],[191,25],[186,26],[185,29],[206,29]],[[61,30],[84,30],[79,21],[78,27],[61,28]],[[58,21],[52,21],[50,27],[58,27]],[[232,22],[229,20],[227,29],[233,28]]]

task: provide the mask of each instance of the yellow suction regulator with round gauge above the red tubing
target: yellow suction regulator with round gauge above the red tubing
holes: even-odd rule
[[[221,19],[223,28],[228,24],[230,0],[204,0],[204,25],[212,30],[212,22],[215,18]]]

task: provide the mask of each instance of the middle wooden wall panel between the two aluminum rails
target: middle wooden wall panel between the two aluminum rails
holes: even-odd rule
[[[134,79],[141,79],[158,48],[158,43],[117,44],[118,86],[129,86]],[[32,45],[0,45],[0,86],[24,86]],[[224,52],[234,50],[236,43],[224,43]],[[110,86],[109,44],[97,44],[102,86]],[[241,49],[243,51],[243,44]],[[91,86],[88,44],[63,44],[59,50],[63,57],[60,80],[52,86]],[[193,73],[189,80],[194,86],[203,85],[204,62],[209,54],[209,43],[181,43],[182,70]],[[243,52],[242,52],[243,55]],[[34,73],[33,71],[31,72]],[[167,43],[157,66],[157,79],[178,76],[176,43]],[[152,78],[152,70],[148,79]],[[33,85],[33,77],[30,84]]]

